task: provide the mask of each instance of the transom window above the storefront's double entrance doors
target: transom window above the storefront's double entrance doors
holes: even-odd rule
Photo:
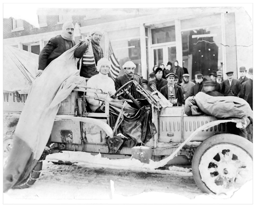
[[[152,44],[174,42],[175,26],[151,29],[151,34],[152,34]]]

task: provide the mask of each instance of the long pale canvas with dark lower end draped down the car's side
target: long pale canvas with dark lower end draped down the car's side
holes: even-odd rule
[[[50,137],[55,116],[79,77],[74,50],[67,50],[34,79],[13,134],[13,147],[4,168],[4,191],[24,180],[41,157]],[[52,104],[52,105],[51,105]]]

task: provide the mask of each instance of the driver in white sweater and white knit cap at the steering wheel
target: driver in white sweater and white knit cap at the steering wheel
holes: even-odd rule
[[[114,100],[113,95],[116,93],[115,89],[115,83],[114,81],[108,76],[109,70],[111,67],[111,63],[108,59],[102,58],[98,61],[97,64],[97,71],[99,74],[92,76],[87,81],[87,86],[91,88],[97,88],[102,89],[103,92],[107,94],[101,94],[97,93],[97,96],[101,99],[104,98],[107,101]],[[92,92],[90,92],[92,91]],[[87,96],[95,96],[95,93],[93,93],[95,90],[88,89]],[[99,91],[100,92],[100,91]],[[99,100],[95,100],[93,98],[87,98],[87,101],[89,103],[89,107],[93,112],[97,112],[98,108],[101,107],[101,105],[104,103]]]

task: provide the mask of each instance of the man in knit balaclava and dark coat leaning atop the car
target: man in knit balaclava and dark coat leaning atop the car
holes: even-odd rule
[[[47,45],[41,50],[39,54],[38,73],[36,76],[40,76],[51,61],[75,46],[75,41],[73,40],[74,28],[72,22],[65,22],[62,26],[61,34],[51,38]]]

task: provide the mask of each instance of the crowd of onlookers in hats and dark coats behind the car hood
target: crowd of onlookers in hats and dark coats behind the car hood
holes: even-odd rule
[[[162,63],[153,68],[153,73],[149,74],[149,80],[142,78],[145,89],[153,92],[150,87],[154,84],[167,99],[177,99],[178,105],[184,104],[189,96],[195,96],[198,92],[204,92],[210,96],[237,96],[248,102],[252,109],[252,68],[249,68],[248,74],[245,67],[240,67],[240,78],[233,77],[233,71],[226,73],[227,79],[223,80],[222,71],[212,71],[204,77],[202,73],[196,72],[193,80],[186,68],[181,68],[178,61],[168,62],[166,68]],[[249,77],[247,77],[248,75]],[[209,80],[210,78],[210,80]]]

